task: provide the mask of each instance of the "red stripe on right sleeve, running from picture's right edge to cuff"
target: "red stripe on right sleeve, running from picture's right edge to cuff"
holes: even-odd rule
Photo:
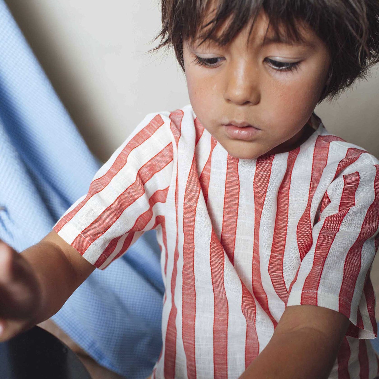
[[[350,304],[354,294],[357,278],[361,268],[361,254],[363,243],[376,233],[379,223],[379,166],[375,165],[374,180],[375,199],[367,210],[359,236],[349,249],[345,259],[343,280],[340,290],[340,312],[350,316]]]

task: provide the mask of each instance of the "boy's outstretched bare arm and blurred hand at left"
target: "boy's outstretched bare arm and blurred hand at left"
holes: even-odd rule
[[[20,254],[0,243],[0,342],[58,312],[94,269],[54,231]]]

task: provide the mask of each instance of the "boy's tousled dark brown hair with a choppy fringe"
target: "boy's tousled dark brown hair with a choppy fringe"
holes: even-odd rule
[[[153,50],[172,46],[184,69],[183,41],[211,36],[225,45],[251,20],[254,25],[262,9],[279,38],[302,41],[305,24],[326,44],[331,64],[319,103],[366,78],[379,62],[379,0],[162,0],[160,44]]]

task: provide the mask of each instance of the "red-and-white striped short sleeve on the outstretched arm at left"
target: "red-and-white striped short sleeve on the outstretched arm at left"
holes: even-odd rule
[[[99,169],[88,193],[53,227],[97,268],[108,266],[157,226],[172,179],[169,122],[163,114],[146,116]]]

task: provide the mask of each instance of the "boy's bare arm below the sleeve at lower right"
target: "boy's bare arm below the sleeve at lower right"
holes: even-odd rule
[[[314,305],[291,305],[273,337],[240,379],[326,379],[337,358],[349,319]]]

